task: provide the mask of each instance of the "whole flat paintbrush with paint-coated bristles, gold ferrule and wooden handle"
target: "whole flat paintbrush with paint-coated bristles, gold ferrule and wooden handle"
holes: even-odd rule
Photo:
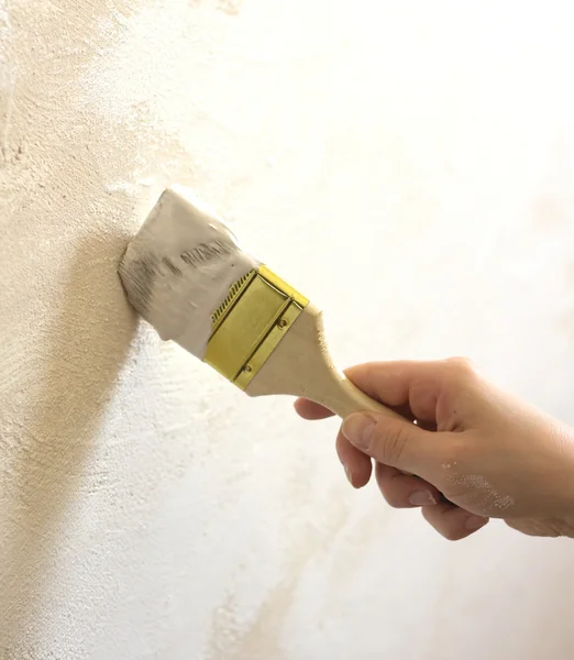
[[[250,396],[301,396],[340,417],[395,415],[335,369],[321,311],[241,250],[192,191],[164,190],[119,273],[132,306]]]

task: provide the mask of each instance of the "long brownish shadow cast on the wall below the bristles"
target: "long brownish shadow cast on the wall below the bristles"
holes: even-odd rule
[[[34,377],[34,405],[22,424],[11,470],[16,531],[4,539],[2,659],[41,657],[25,646],[26,638],[34,638],[29,632],[38,623],[42,594],[58,561],[66,509],[77,498],[135,330],[135,315],[117,275],[126,242],[118,233],[78,241],[42,342],[38,360],[45,371]]]

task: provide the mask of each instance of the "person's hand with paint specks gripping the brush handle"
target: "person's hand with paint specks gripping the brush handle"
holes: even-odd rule
[[[486,382],[463,359],[380,362],[347,377],[405,421],[354,414],[336,451],[351,484],[376,481],[394,507],[422,507],[437,531],[467,537],[488,518],[532,536],[574,537],[574,430]],[[306,399],[305,419],[332,414]],[[405,474],[409,473],[409,474]]]

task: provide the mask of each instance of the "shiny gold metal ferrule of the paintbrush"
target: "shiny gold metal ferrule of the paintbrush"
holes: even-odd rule
[[[203,361],[245,389],[308,302],[266,266],[251,271],[212,314]]]

